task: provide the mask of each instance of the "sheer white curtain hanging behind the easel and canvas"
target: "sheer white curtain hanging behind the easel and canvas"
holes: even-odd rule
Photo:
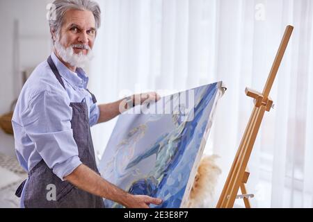
[[[99,0],[102,28],[90,65],[99,103],[155,90],[170,94],[223,80],[206,153],[224,176],[284,33],[295,27],[250,157],[252,207],[313,207],[311,0]],[[93,128],[101,157],[115,120]],[[239,200],[237,205],[243,205]]]

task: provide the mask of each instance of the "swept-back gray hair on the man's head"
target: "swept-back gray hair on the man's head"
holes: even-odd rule
[[[100,27],[101,10],[98,3],[96,3],[95,1],[55,0],[54,3],[51,4],[51,8],[49,11],[49,26],[51,31],[56,32],[56,35],[58,35],[61,31],[65,13],[71,9],[88,10],[90,12],[93,12],[93,16],[95,17],[96,30]]]

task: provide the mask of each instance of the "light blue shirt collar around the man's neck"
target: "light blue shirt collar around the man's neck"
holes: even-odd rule
[[[72,87],[83,87],[86,89],[88,84],[88,76],[86,75],[85,71],[81,68],[76,69],[76,73],[68,69],[63,62],[61,62],[54,52],[51,53],[51,58],[58,69],[60,75],[70,83]]]

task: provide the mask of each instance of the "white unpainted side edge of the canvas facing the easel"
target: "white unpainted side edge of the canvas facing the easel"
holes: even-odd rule
[[[218,101],[220,100],[220,98],[223,96],[223,94],[225,93],[225,91],[227,89],[223,82],[218,82],[217,84],[218,84],[217,85],[218,90],[217,90],[216,94],[218,94],[218,95],[214,99],[212,112],[211,112],[210,117],[209,117],[209,119],[211,119],[211,120],[214,119],[214,117],[215,117],[216,107],[217,107]],[[198,151],[198,154],[195,157],[195,161],[193,163],[193,168],[192,168],[191,173],[189,175],[188,182],[187,182],[187,185],[186,185],[186,189],[185,189],[185,192],[184,192],[184,196],[182,198],[182,203],[180,204],[179,208],[187,208],[188,198],[189,198],[189,195],[191,193],[191,188],[193,186],[193,181],[195,180],[195,174],[198,171],[198,167],[200,165],[200,160],[201,160],[202,155],[204,153],[204,148],[205,148],[205,146],[207,144],[207,139],[209,137],[209,131],[211,129],[211,126],[212,126],[212,121],[208,121],[207,127],[205,129],[204,136],[202,137],[202,141],[200,143],[200,151]]]

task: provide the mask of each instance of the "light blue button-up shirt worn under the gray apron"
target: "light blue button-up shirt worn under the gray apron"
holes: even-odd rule
[[[64,180],[81,164],[71,129],[70,103],[86,100],[90,126],[97,123],[99,108],[93,104],[86,90],[88,76],[83,69],[77,68],[75,74],[54,53],[51,53],[51,58],[66,91],[51,71],[47,60],[42,62],[19,94],[12,123],[15,151],[22,167],[29,172],[43,159],[56,176]]]

